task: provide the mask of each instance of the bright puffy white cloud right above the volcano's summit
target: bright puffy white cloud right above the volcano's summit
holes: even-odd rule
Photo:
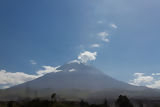
[[[88,61],[95,60],[96,55],[97,55],[97,52],[92,53],[92,52],[89,52],[89,51],[85,51],[85,52],[79,54],[78,59],[82,63],[87,63]]]

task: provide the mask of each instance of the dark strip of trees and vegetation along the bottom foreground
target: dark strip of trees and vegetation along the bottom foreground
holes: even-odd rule
[[[88,103],[87,101],[66,101],[57,99],[56,93],[50,100],[40,98],[23,101],[2,101],[0,107],[160,107],[160,102],[130,101],[127,96],[120,95],[114,102],[104,99],[103,103]]]

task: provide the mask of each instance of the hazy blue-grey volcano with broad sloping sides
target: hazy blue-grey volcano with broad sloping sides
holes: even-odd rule
[[[60,98],[68,100],[112,99],[120,94],[131,98],[160,98],[160,91],[157,89],[118,81],[82,63],[67,63],[58,70],[61,72],[48,73],[35,80],[0,91],[0,99],[49,98],[52,93],[57,93]]]

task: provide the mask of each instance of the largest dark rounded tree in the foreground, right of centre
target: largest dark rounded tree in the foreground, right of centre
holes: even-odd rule
[[[129,101],[127,96],[120,95],[116,101],[118,107],[133,107],[132,103]]]

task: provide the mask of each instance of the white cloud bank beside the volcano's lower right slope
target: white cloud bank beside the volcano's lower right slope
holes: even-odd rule
[[[154,77],[159,76],[159,74],[152,73],[152,75],[145,75],[144,73],[135,73],[135,78],[129,83],[137,86],[147,86],[149,88],[160,88],[160,79]]]

